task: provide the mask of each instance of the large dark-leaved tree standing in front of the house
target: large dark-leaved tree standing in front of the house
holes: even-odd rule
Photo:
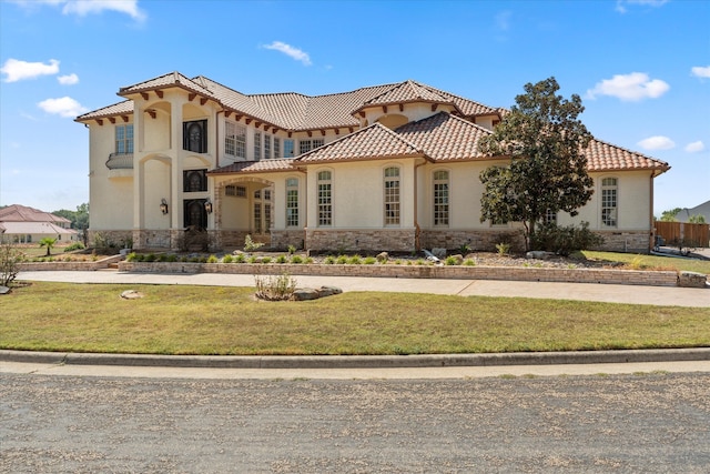
[[[525,84],[526,93],[478,145],[484,154],[510,159],[480,173],[480,221],[523,222],[528,249],[548,212],[577,215],[594,192],[585,155],[592,137],[578,119],[585,108],[579,95],[568,100],[558,90],[555,78]]]

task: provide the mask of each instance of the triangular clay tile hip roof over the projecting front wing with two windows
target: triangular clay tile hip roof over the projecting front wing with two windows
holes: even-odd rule
[[[425,157],[424,152],[382,123],[373,123],[302,154],[297,163],[323,163],[334,161],[386,160],[393,158]]]

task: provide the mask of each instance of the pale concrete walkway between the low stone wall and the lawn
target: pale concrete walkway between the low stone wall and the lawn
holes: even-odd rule
[[[453,294],[460,296],[542,297],[662,306],[710,307],[710,289],[592,283],[516,282],[498,280],[387,279],[293,275],[300,288],[331,285],[345,292],[377,291]],[[186,284],[254,286],[254,276],[220,273],[20,272],[18,280],[70,283]]]

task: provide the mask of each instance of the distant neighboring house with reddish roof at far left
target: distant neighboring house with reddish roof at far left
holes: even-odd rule
[[[0,234],[6,242],[34,243],[44,238],[58,242],[78,240],[77,231],[70,228],[69,219],[26,205],[0,209]]]

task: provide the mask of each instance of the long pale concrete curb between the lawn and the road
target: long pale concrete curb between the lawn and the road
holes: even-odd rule
[[[194,369],[405,369],[710,361],[710,347],[426,355],[151,355],[0,351],[0,362]]]

